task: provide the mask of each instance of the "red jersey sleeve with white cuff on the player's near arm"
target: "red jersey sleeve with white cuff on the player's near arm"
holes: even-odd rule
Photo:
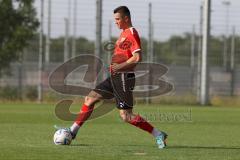
[[[132,54],[141,50],[141,41],[137,31],[133,30],[132,34],[129,36],[129,39],[132,43],[130,51]]]

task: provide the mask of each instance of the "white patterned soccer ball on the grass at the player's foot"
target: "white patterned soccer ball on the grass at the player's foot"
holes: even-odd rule
[[[53,142],[56,145],[70,145],[72,142],[72,135],[67,129],[59,129],[53,136]]]

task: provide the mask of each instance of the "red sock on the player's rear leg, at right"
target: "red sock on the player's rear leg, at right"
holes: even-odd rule
[[[145,119],[143,119],[140,115],[136,115],[129,123],[152,134],[154,127]]]

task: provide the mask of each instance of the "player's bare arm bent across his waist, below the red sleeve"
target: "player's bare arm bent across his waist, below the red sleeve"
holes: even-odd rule
[[[138,62],[142,60],[141,52],[137,51],[133,53],[133,56],[129,58],[126,62],[120,63],[120,64],[112,64],[112,73],[120,72],[123,70],[127,70],[129,68],[133,68],[137,65]]]

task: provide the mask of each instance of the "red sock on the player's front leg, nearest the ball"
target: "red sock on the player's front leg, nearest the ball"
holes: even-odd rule
[[[75,120],[75,123],[77,123],[79,126],[82,126],[83,123],[91,116],[93,108],[94,106],[87,106],[83,104],[81,111],[78,114],[77,119]]]

